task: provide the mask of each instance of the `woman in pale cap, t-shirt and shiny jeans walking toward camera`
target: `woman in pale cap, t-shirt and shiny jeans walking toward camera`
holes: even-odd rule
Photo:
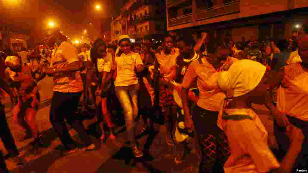
[[[131,41],[128,35],[122,35],[118,39],[120,46],[116,53],[115,93],[124,109],[125,124],[128,131],[128,139],[132,140],[135,157],[143,156],[135,140],[135,118],[138,115],[139,81],[136,72],[144,70],[143,62],[138,53],[131,51]]]

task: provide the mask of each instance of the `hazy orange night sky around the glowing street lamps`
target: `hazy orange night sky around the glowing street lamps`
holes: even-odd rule
[[[19,5],[11,5],[10,1],[18,1]],[[15,32],[31,33],[40,38],[46,32],[48,22],[56,25],[68,37],[81,38],[82,31],[98,30],[99,16],[102,30],[110,30],[110,18],[120,14],[120,8],[127,0],[1,0],[0,26],[8,25]],[[95,10],[96,4],[102,10]],[[92,23],[92,26],[89,23]],[[91,28],[92,27],[92,28]]]

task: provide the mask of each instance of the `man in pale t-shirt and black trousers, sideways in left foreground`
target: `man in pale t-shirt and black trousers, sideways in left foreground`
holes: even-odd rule
[[[54,77],[50,122],[64,146],[63,155],[79,151],[68,132],[64,119],[80,135],[85,146],[82,151],[95,148],[81,120],[75,115],[83,91],[80,77],[82,62],[79,61],[75,47],[66,40],[59,30],[52,34],[49,38],[49,45],[57,43],[60,46],[51,59],[51,68],[43,69],[47,75]]]

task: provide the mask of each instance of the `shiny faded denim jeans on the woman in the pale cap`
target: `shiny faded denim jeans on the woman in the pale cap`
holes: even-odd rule
[[[124,110],[125,125],[128,131],[128,140],[135,139],[135,119],[138,115],[139,84],[129,86],[115,86],[115,94]]]

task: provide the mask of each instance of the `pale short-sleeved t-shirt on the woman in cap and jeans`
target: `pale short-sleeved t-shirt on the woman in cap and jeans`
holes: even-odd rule
[[[138,53],[130,54],[122,53],[120,57],[115,57],[117,68],[117,76],[115,78],[115,86],[129,86],[138,84],[138,78],[135,72],[137,65],[143,65],[141,57]]]

